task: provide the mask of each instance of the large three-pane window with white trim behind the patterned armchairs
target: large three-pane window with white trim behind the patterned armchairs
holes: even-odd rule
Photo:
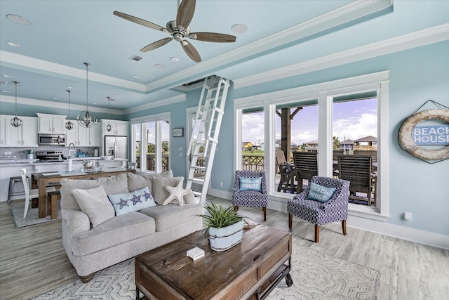
[[[235,100],[236,145],[243,145],[246,142],[243,141],[244,134],[254,129],[246,122],[251,115],[248,112],[264,103],[263,110],[257,113],[263,113],[264,170],[273,207],[279,204],[279,209],[282,209],[291,197],[278,192],[279,174],[276,167],[276,148],[281,147],[288,133],[288,130],[282,133],[286,119],[281,123],[281,115],[290,113],[290,151],[316,150],[319,176],[339,176],[335,160],[340,152],[342,155],[354,155],[355,150],[373,151],[372,160],[376,161],[373,189],[377,201],[374,206],[366,205],[367,202],[363,205],[363,202],[351,201],[349,211],[354,216],[370,219],[384,220],[388,217],[388,173],[382,173],[388,166],[387,80],[388,72],[378,72],[245,97],[241,99],[241,104],[239,99]],[[298,107],[302,108],[298,110]],[[262,119],[262,116],[258,115],[258,118]],[[243,156],[242,147],[235,150],[236,169],[243,167],[239,159]],[[363,196],[363,193],[355,193],[355,196]]]

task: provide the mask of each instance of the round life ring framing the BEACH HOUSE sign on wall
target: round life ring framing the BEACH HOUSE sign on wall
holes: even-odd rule
[[[434,101],[431,102],[434,103]],[[444,105],[441,106],[445,107]],[[402,123],[401,128],[399,129],[398,133],[399,145],[403,150],[406,150],[408,153],[410,153],[410,155],[423,159],[424,161],[427,161],[426,159],[428,159],[428,160],[438,160],[439,162],[444,159],[449,159],[449,145],[441,149],[426,149],[420,147],[419,145],[416,145],[412,139],[412,133],[415,126],[420,122],[431,119],[439,119],[449,123],[449,109],[437,108],[432,110],[423,110],[422,112],[417,112],[414,113],[413,115],[410,115],[410,117],[408,117]]]

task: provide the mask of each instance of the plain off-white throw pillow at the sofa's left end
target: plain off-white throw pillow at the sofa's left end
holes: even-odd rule
[[[105,189],[101,185],[88,190],[74,188],[72,194],[81,211],[87,214],[93,227],[97,227],[100,223],[115,216],[114,207],[109,202]]]

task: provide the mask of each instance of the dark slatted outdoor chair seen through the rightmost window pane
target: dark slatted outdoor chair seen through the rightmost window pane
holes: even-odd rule
[[[351,182],[349,200],[375,205],[375,191],[370,155],[342,155],[338,157],[338,178]],[[366,196],[365,196],[366,195]]]

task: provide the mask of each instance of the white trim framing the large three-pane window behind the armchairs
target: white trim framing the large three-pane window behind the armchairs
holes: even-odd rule
[[[234,171],[241,168],[241,114],[243,109],[250,107],[260,107],[264,103],[264,135],[265,137],[265,173],[269,182],[268,193],[270,200],[286,202],[290,197],[282,195],[283,193],[274,193],[275,183],[273,175],[275,174],[274,154],[274,113],[276,104],[289,103],[311,98],[318,98],[319,102],[319,143],[325,151],[320,152],[320,159],[328,162],[319,166],[319,174],[332,174],[332,152],[329,150],[330,141],[332,141],[332,96],[342,93],[355,93],[366,90],[378,89],[377,94],[377,132],[379,134],[377,141],[378,148],[378,166],[380,180],[377,182],[377,207],[364,207],[357,204],[349,204],[349,214],[362,216],[368,219],[379,221],[387,220],[389,216],[389,172],[388,172],[388,91],[389,91],[389,71],[364,74],[357,77],[328,81],[310,86],[301,86],[295,89],[275,91],[260,95],[248,96],[234,99]],[[381,119],[382,117],[382,119]],[[377,188],[376,187],[376,188]]]

